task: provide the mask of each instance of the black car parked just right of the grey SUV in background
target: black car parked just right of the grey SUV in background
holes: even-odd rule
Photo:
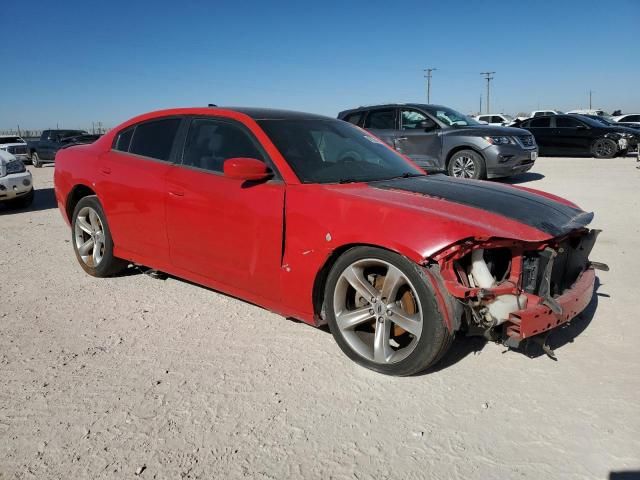
[[[529,118],[519,125],[536,138],[541,155],[593,155],[613,158],[635,147],[640,132],[605,125],[584,115],[548,115]]]

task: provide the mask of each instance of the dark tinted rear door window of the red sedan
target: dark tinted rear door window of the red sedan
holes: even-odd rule
[[[180,118],[165,118],[137,125],[129,153],[169,160],[180,121]]]

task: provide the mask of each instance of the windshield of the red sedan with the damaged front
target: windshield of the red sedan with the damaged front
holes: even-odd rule
[[[381,140],[340,120],[259,120],[258,124],[304,183],[424,175]]]

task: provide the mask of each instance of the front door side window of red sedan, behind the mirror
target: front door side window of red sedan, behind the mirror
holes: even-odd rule
[[[224,161],[235,157],[265,161],[255,141],[238,125],[212,119],[191,122],[182,156],[183,165],[222,172]]]

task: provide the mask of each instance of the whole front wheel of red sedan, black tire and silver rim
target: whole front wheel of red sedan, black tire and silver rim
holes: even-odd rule
[[[324,310],[336,343],[353,361],[406,376],[434,365],[453,334],[422,267],[374,247],[356,247],[333,265]]]

